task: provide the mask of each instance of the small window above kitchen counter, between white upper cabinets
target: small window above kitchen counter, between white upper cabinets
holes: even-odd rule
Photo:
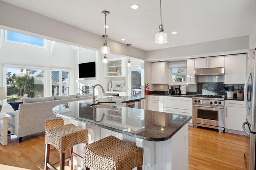
[[[172,82],[186,82],[186,67],[171,68],[171,83]]]

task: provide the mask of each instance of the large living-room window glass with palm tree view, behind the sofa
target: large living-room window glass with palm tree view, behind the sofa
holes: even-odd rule
[[[45,70],[25,67],[5,67],[7,102],[19,102],[28,94],[30,98],[44,97]]]

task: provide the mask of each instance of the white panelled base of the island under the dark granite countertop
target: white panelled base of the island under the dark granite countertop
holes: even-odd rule
[[[138,147],[143,148],[143,170],[188,170],[188,123],[170,139],[154,142],[138,139],[66,117],[62,118],[64,119],[64,124],[73,123],[74,125],[88,129],[89,144],[110,135],[123,141],[136,143]],[[84,146],[85,144],[76,145],[73,150],[75,153],[83,156]],[[76,170],[83,169],[83,161],[78,157],[74,158],[74,168]],[[137,170],[137,168],[133,170]]]

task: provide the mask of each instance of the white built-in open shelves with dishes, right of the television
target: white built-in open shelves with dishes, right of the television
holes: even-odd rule
[[[126,59],[109,59],[106,64],[105,77],[125,77]]]

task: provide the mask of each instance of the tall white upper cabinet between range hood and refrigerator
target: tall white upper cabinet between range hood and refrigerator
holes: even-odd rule
[[[244,84],[246,60],[246,55],[225,56],[225,84]]]

